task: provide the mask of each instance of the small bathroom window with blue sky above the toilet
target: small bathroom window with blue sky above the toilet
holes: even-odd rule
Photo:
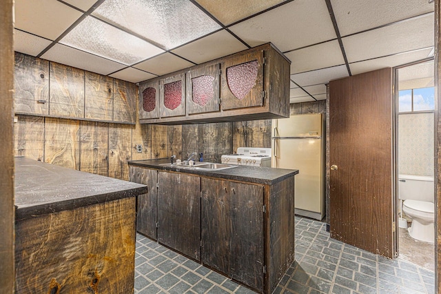
[[[435,88],[401,90],[398,93],[399,112],[427,111],[435,109]]]

